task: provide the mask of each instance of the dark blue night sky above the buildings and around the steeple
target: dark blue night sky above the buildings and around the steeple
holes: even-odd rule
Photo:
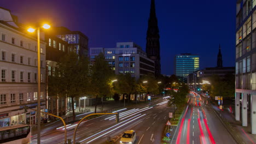
[[[223,65],[235,65],[236,1],[155,0],[162,74],[173,74],[174,56],[200,55],[200,69],[216,67],[219,43]],[[81,31],[89,47],[133,41],[146,49],[150,0],[1,1],[22,23],[48,19],[53,26]]]

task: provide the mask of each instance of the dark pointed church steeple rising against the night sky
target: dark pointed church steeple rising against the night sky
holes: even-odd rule
[[[159,38],[158,19],[155,14],[155,1],[152,0],[148,19],[146,52],[147,56],[155,62],[155,76],[161,74]]]

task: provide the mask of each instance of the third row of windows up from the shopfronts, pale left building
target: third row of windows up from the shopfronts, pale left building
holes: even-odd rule
[[[2,51],[1,52],[1,60],[2,61],[7,61],[7,52]],[[11,53],[11,62],[15,62],[15,63],[21,63],[21,64],[25,64],[25,57],[24,56],[20,56],[19,60],[17,59],[16,53]],[[28,57],[27,58],[27,65],[31,65],[31,58]],[[40,67],[44,67],[44,63],[43,61],[40,61]],[[37,59],[34,59],[34,66],[37,66]]]

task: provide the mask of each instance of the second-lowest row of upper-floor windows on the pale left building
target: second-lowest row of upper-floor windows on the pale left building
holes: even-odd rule
[[[8,74],[10,75],[10,81],[8,81],[7,76]],[[18,82],[18,76],[19,76],[19,82],[37,82],[37,73],[33,73],[34,74],[34,79],[32,81],[32,73],[31,72],[27,72],[26,73],[26,81],[24,79],[25,77],[25,72],[24,71],[20,71],[20,73],[18,73],[18,71],[16,70],[10,70],[10,72],[8,73],[6,69],[2,69],[1,70],[1,81],[2,82]],[[43,82],[43,74],[41,74],[40,76],[41,82]]]

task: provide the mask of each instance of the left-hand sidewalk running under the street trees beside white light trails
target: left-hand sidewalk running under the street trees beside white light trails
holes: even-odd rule
[[[161,97],[160,97],[161,98]],[[156,100],[154,100],[156,101]],[[143,105],[148,105],[154,101],[147,101],[147,103],[145,103],[144,101],[137,101],[137,104],[135,101],[131,101],[131,103],[125,103],[125,107],[124,107],[124,102],[119,103],[117,101],[104,101],[103,103],[103,112],[113,112],[116,110],[120,110],[120,109],[124,109],[124,108],[136,108],[136,107],[141,107]],[[78,107],[75,110],[75,122],[79,121],[79,119],[83,118],[86,115],[89,115],[91,113],[94,113],[95,111],[95,105],[92,106],[86,106],[85,109],[89,110],[90,112],[78,112]],[[83,110],[83,109],[81,109]],[[102,106],[101,104],[97,105],[97,113],[102,112]],[[84,114],[84,115],[83,115]],[[74,123],[73,122],[73,118],[72,118],[72,111],[70,111],[68,113],[68,115],[66,116],[62,116],[62,118],[64,119],[65,123]],[[49,131],[52,131],[56,128],[62,127],[63,123],[61,122],[61,120],[59,118],[48,122],[48,123],[42,123],[41,127],[40,127],[40,135],[45,135],[48,134]],[[35,137],[37,137],[37,125],[35,125],[35,127],[32,128],[32,138],[34,139]]]

